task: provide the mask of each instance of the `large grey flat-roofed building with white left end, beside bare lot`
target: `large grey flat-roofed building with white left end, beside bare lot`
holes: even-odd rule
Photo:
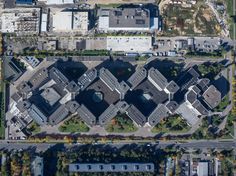
[[[148,31],[158,28],[158,17],[151,17],[148,9],[113,8],[99,11],[98,29],[101,31]]]

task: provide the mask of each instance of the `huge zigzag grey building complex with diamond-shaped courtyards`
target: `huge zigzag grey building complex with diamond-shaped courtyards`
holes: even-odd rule
[[[154,67],[141,67],[119,82],[106,68],[89,69],[77,81],[69,81],[52,66],[21,82],[11,99],[13,123],[21,127],[31,120],[54,126],[70,114],[78,114],[88,126],[105,126],[120,113],[138,126],[151,127],[177,113],[193,126],[220,103],[221,93],[194,68],[175,82]]]

